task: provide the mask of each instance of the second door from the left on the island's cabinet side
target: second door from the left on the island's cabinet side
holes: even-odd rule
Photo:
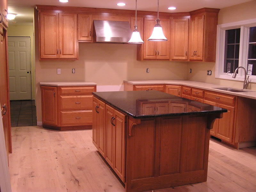
[[[98,109],[97,111],[97,130],[99,131],[98,136],[98,150],[100,154],[105,158],[105,103],[98,100]]]

